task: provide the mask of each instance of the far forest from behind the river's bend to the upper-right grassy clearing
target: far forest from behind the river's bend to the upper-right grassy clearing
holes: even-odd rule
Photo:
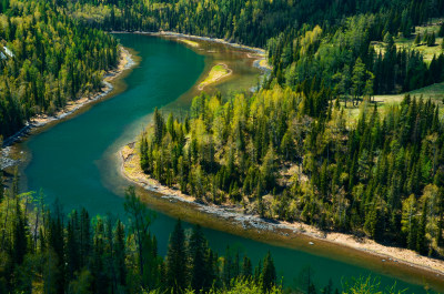
[[[432,64],[394,37],[444,13],[444,1],[90,1],[63,3],[68,13],[108,30],[175,31],[266,48],[270,79],[295,87],[317,78],[345,97],[405,92],[441,82],[444,57]],[[93,12],[91,12],[91,10]],[[428,36],[425,36],[428,37]],[[430,33],[427,45],[437,45]],[[376,52],[372,41],[384,41]],[[364,64],[363,87],[349,87]],[[276,78],[276,79],[274,79]]]

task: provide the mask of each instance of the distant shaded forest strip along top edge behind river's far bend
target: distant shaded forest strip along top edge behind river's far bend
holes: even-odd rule
[[[59,0],[74,17],[105,30],[176,31],[265,47],[270,38],[320,24],[335,30],[350,16],[384,12],[385,31],[403,31],[444,12],[442,0]]]

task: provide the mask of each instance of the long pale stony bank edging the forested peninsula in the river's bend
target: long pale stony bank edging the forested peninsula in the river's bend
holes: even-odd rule
[[[329,242],[373,255],[375,258],[379,258],[382,263],[387,265],[404,264],[408,267],[432,272],[437,277],[444,276],[444,261],[422,256],[410,250],[385,246],[374,242],[373,240],[366,237],[357,239],[351,234],[326,233],[304,223],[264,220],[259,215],[244,214],[241,206],[218,206],[214,204],[196,203],[194,197],[185,195],[179,190],[161,185],[158,181],[144,174],[140,169],[140,156],[135,150],[135,143],[125,145],[120,151],[120,156],[122,159],[121,172],[123,176],[134,184],[138,184],[147,191],[157,192],[161,194],[161,197],[193,204],[193,206],[200,212],[222,217],[242,226],[244,230],[254,229],[258,230],[259,233],[268,232],[274,234],[276,237],[282,237],[284,235],[287,239],[303,235],[311,240],[309,241],[311,246],[316,246],[316,242],[319,241]]]

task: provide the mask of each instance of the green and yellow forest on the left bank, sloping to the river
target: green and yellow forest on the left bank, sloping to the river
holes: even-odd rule
[[[69,18],[49,1],[4,0],[0,6],[0,135],[36,114],[102,88],[117,65],[118,42]]]

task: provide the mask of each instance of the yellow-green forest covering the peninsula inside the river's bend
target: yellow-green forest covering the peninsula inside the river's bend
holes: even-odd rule
[[[330,90],[276,87],[224,103],[201,94],[190,112],[157,110],[142,135],[141,166],[162,184],[443,254],[444,124],[431,100],[406,95],[384,112],[366,101],[347,123]]]

